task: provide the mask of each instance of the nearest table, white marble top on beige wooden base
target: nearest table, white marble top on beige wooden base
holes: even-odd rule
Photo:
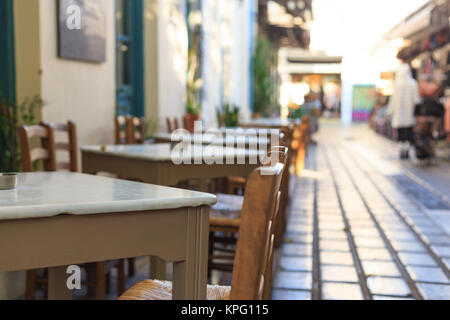
[[[20,174],[0,191],[0,272],[49,267],[49,298],[70,299],[66,266],[139,256],[174,263],[174,299],[206,297],[213,195],[77,173]]]

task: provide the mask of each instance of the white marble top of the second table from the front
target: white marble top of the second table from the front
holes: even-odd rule
[[[221,146],[204,146],[181,143],[173,147],[170,143],[147,145],[109,145],[86,146],[83,152],[114,155],[124,158],[143,159],[149,161],[171,161],[179,163],[184,161],[203,160],[212,161],[229,157],[260,157],[266,154],[265,150],[238,149]]]

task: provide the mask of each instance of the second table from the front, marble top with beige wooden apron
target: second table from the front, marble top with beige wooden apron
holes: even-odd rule
[[[261,165],[261,157],[267,153],[265,150],[189,146],[186,152],[169,143],[83,147],[83,172],[109,172],[146,183],[176,186],[190,179],[247,177]]]

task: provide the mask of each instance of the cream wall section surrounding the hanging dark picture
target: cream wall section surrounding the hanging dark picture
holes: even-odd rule
[[[94,64],[58,58],[56,1],[40,1],[43,119],[76,121],[80,147],[114,141],[114,1],[106,0],[105,6],[106,62]]]

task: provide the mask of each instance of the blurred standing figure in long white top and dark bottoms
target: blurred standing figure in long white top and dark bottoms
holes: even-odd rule
[[[414,109],[419,102],[417,81],[414,80],[409,65],[402,62],[396,73],[394,94],[388,108],[388,114],[392,117],[392,127],[397,130],[400,159],[409,159],[409,149],[414,144]]]

